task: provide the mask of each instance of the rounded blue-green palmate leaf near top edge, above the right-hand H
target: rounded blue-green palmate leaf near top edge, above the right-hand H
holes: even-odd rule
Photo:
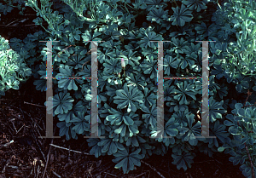
[[[184,26],[185,22],[189,22],[193,19],[192,11],[187,9],[183,4],[181,8],[176,7],[172,8],[174,11],[171,18],[169,18],[169,21],[172,21],[172,26]]]

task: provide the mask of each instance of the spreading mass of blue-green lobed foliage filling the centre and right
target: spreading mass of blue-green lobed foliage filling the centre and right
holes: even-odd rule
[[[90,78],[91,44],[84,41],[104,41],[97,49],[97,89],[98,130],[105,138],[87,140],[90,154],[96,158],[113,155],[115,168],[126,174],[140,166],[143,158],[171,151],[172,164],[186,170],[196,152],[211,157],[225,149],[232,155],[230,161],[241,164],[243,175],[252,177],[256,3],[230,0],[212,12],[209,7],[214,4],[218,2],[64,0],[55,1],[58,10],[53,12],[53,3],[44,0],[39,6],[29,0],[26,6],[38,13],[35,24],[42,25],[44,19],[49,26],[23,41],[9,41],[32,69],[34,85],[41,91],[46,90],[48,51],[46,43],[38,41],[60,41],[52,48],[56,78]],[[208,79],[201,72],[201,43],[195,41],[216,41],[209,43],[210,135],[216,139],[195,138],[201,135],[203,91],[199,79],[164,81],[164,135],[172,138],[149,138],[155,134],[157,123],[158,49],[152,40],[171,41],[164,43],[165,77],[202,80]],[[59,135],[67,140],[90,136],[90,79],[56,79],[53,86],[54,104],[50,109],[60,121]],[[250,97],[246,98],[248,92]],[[244,100],[236,100],[238,96]],[[245,100],[248,107],[243,109]]]

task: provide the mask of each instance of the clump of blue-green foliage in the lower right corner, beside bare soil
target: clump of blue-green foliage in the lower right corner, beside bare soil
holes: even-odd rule
[[[229,128],[230,138],[224,142],[223,146],[218,147],[218,152],[230,154],[230,161],[234,165],[241,164],[240,170],[246,177],[252,177],[251,161],[255,172],[255,138],[256,138],[256,107],[251,103],[246,103],[244,107],[241,103],[236,103],[232,114],[226,116],[224,125]],[[251,157],[251,161],[248,158]]]

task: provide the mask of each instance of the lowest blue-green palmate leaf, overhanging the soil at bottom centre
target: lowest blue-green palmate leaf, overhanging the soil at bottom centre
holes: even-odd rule
[[[141,148],[138,148],[137,151],[131,152],[125,150],[119,150],[118,152],[114,153],[113,156],[115,157],[112,159],[113,163],[118,163],[114,166],[115,169],[122,168],[124,174],[128,173],[130,170],[134,169],[134,165],[141,166],[141,159],[143,156],[138,154],[141,152]]]

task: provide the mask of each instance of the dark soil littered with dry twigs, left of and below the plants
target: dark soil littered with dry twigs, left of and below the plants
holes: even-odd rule
[[[26,8],[25,15],[20,15],[19,11],[14,9],[11,13],[2,15],[0,32],[3,37],[24,39],[29,33],[44,31],[41,26],[33,24],[32,20],[37,15],[32,9]],[[20,22],[24,19],[27,20]],[[168,152],[164,157],[153,155],[150,159],[143,160],[152,167],[142,164],[136,170],[130,171],[129,175],[123,175],[122,170],[114,169],[112,156],[95,158],[55,146],[51,146],[49,151],[51,142],[80,152],[90,152],[90,147],[82,136],[79,136],[78,141],[66,141],[65,137],[53,140],[39,138],[45,135],[46,94],[36,90],[32,82],[28,80],[19,90],[9,89],[0,99],[0,178],[42,177],[44,171],[44,177],[53,178],[156,178],[160,177],[158,173],[170,178],[244,177],[239,170],[239,165],[234,166],[229,161],[230,155],[219,152],[213,153],[212,158],[198,153],[192,168],[186,172],[183,169],[178,170],[176,165],[172,164],[172,152]],[[59,129],[56,129],[55,135],[58,133]],[[3,146],[10,141],[14,142],[9,146]],[[46,164],[47,160],[49,160],[48,164]],[[46,165],[47,169],[45,169]]]

